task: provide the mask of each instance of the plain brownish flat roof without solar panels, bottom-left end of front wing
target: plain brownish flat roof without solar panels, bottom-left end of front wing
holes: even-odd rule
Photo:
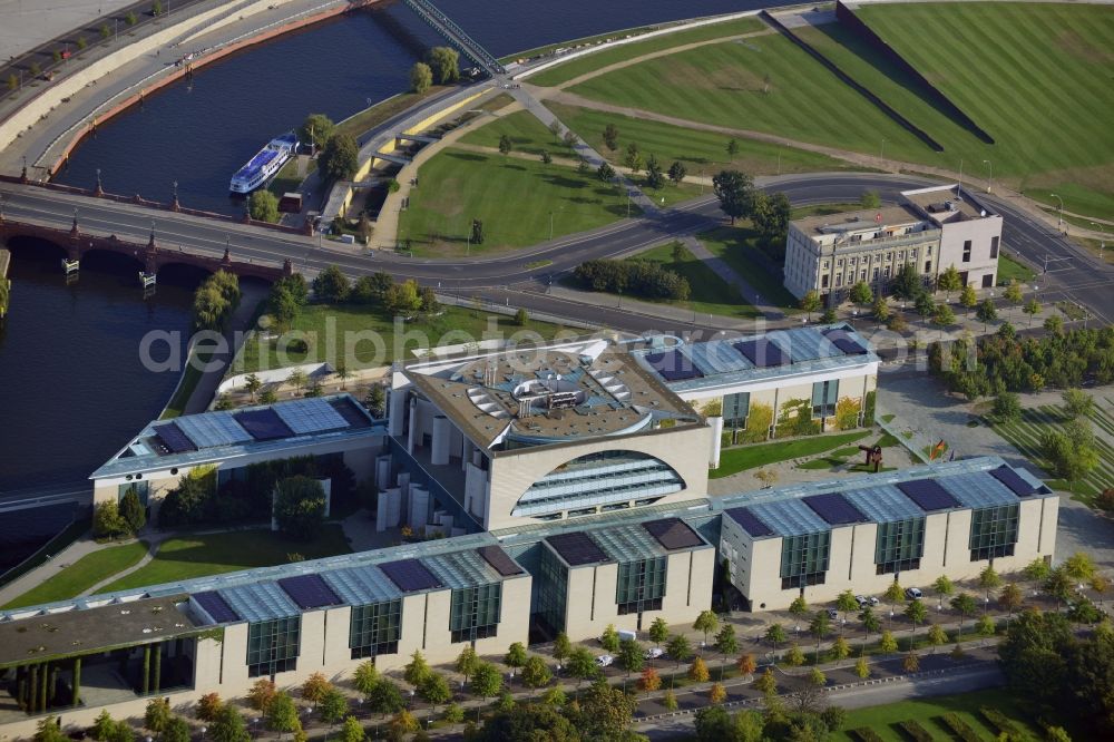
[[[197,623],[178,605],[183,595],[133,601],[88,609],[66,606],[41,615],[17,608],[0,621],[0,666],[49,657],[105,652],[197,633]]]

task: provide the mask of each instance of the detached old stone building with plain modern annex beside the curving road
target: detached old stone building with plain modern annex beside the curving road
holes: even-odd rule
[[[925,285],[951,265],[966,284],[994,286],[1001,216],[958,185],[906,191],[901,203],[794,219],[785,242],[785,287],[817,291],[829,306],[856,283],[886,293],[902,265]]]

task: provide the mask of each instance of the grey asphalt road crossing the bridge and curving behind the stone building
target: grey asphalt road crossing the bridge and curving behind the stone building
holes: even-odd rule
[[[877,189],[883,202],[893,202],[898,192],[930,182],[903,175],[810,174],[761,178],[770,191],[784,192],[795,205],[858,201],[866,188]],[[693,324],[671,326],[659,318],[559,300],[546,294],[556,276],[589,258],[617,257],[663,241],[700,232],[723,223],[714,196],[705,196],[654,215],[623,219],[592,232],[569,235],[551,242],[476,260],[411,258],[393,253],[358,254],[342,251],[320,238],[278,234],[238,223],[222,223],[204,217],[158,212],[131,204],[119,204],[86,196],[60,194],[33,186],[0,184],[3,213],[11,219],[27,219],[68,227],[78,208],[82,232],[116,234],[144,244],[152,225],[156,240],[166,251],[184,248],[219,256],[225,244],[237,260],[281,263],[290,258],[299,271],[315,273],[336,264],[358,276],[387,271],[397,279],[417,279],[443,293],[479,295],[497,303],[525,306],[531,311],[568,316],[618,330],[692,330]],[[1004,250],[1022,255],[1048,272],[1038,280],[1045,302],[1067,299],[1089,307],[1093,316],[1110,322],[1114,316],[1114,269],[1103,266],[1082,248],[1049,231],[1024,213],[990,199],[1005,216]],[[545,263],[544,266],[539,266]]]

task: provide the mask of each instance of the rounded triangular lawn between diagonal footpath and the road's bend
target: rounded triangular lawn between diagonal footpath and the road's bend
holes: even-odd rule
[[[399,240],[418,256],[499,253],[584,232],[627,215],[626,195],[594,173],[448,148],[418,170],[421,188],[399,219]],[[631,216],[641,212],[631,207]],[[468,247],[472,219],[483,244]]]

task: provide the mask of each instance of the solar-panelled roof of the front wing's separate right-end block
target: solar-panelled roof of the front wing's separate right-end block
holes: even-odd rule
[[[1027,494],[1017,494],[1003,478]],[[1056,495],[1024,469],[1015,469],[998,457],[981,457],[740,492],[714,500],[713,508],[754,538],[776,538],[857,523],[924,518],[949,509],[1013,505],[1030,497]]]

